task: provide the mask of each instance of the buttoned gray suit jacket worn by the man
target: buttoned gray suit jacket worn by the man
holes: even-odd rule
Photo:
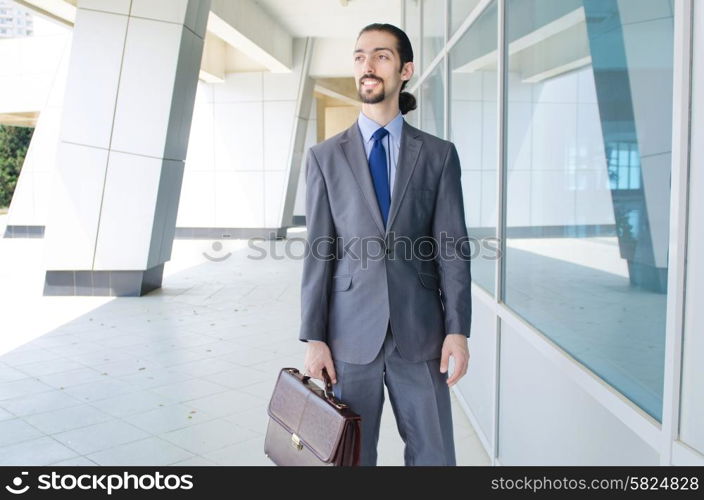
[[[306,159],[302,341],[369,363],[388,322],[403,358],[440,357],[448,333],[469,337],[470,245],[452,142],[404,121],[387,228],[357,122]]]

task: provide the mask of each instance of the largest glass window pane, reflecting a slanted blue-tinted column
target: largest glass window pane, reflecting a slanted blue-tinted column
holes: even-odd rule
[[[505,301],[662,416],[668,0],[508,0]]]

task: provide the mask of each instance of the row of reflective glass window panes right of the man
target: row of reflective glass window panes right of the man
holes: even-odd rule
[[[497,2],[420,2],[420,126],[446,133],[460,154],[474,282],[661,420],[672,2],[504,5],[499,144]],[[415,21],[418,2],[405,8]],[[468,16],[476,19],[458,31]],[[456,39],[443,48],[444,29]],[[441,64],[425,71],[441,53]],[[506,253],[497,259],[501,236]]]

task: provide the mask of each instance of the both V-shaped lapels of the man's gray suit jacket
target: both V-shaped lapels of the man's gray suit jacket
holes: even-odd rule
[[[357,121],[342,134],[339,144],[342,148],[343,156],[347,160],[347,165],[352,170],[354,178],[362,192],[366,201],[367,208],[372,215],[372,219],[379,229],[379,233],[385,235],[396,217],[398,207],[406,192],[406,186],[411,178],[411,174],[416,167],[418,154],[423,141],[419,138],[418,129],[403,122],[401,132],[401,144],[399,145],[399,158],[396,165],[396,177],[394,178],[394,191],[391,196],[391,206],[389,207],[389,220],[387,221],[387,229],[384,230],[384,222],[381,219],[381,211],[379,203],[376,199],[376,191],[372,181],[371,172],[369,172],[369,162],[364,150],[364,139],[357,126]]]

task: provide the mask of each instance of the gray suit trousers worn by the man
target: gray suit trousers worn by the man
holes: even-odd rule
[[[396,348],[389,324],[371,363],[333,362],[337,374],[333,393],[362,417],[360,465],[376,465],[384,384],[405,443],[405,464],[456,465],[448,374],[440,373],[440,358],[406,361]]]

